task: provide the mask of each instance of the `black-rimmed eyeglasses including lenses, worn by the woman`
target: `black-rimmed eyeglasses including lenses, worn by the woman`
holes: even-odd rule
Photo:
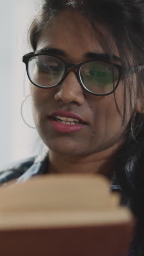
[[[29,80],[39,88],[58,86],[70,71],[74,71],[82,88],[98,96],[112,94],[117,89],[124,71],[122,66],[104,61],[103,56],[75,65],[51,54],[29,53],[23,56],[22,61],[26,64]],[[135,72],[134,68],[127,70],[127,73]]]

